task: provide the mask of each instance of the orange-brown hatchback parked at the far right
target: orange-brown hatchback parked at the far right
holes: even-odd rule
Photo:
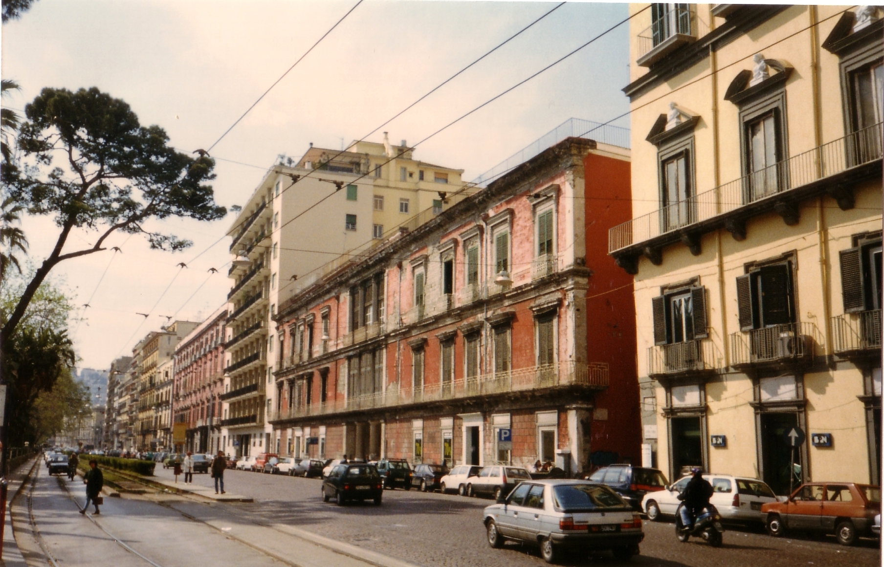
[[[881,489],[853,482],[808,482],[786,502],[761,506],[767,533],[778,537],[792,530],[833,533],[838,543],[853,545],[872,537],[874,518],[881,511]]]

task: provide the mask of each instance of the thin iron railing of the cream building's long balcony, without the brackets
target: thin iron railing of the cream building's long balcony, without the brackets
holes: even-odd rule
[[[881,124],[744,175],[688,200],[618,224],[608,231],[608,253],[725,215],[820,179],[881,159]],[[656,192],[655,192],[656,193]]]

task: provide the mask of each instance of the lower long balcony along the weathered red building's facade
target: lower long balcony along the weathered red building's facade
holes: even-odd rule
[[[350,397],[324,404],[302,405],[273,412],[269,420],[290,420],[313,415],[357,412],[471,397],[488,397],[517,392],[541,394],[555,388],[584,387],[606,389],[609,383],[608,366],[601,362],[565,362],[543,367],[520,368],[506,373],[483,374],[473,378],[426,384],[423,389],[389,388],[386,392],[368,396]]]

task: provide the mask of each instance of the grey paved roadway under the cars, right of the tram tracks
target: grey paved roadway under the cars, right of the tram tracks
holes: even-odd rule
[[[172,478],[157,467],[156,474]],[[179,477],[181,481],[183,477]],[[211,486],[208,474],[194,482]],[[321,481],[255,472],[227,471],[228,492],[250,496],[254,503],[211,504],[239,518],[265,525],[286,525],[339,541],[346,541],[385,556],[427,567],[503,567],[545,564],[537,550],[514,543],[489,548],[484,539],[482,510],[490,500],[458,495],[423,494],[415,490],[388,490],[384,503],[339,507],[323,503]],[[838,545],[834,538],[815,541],[796,537],[772,538],[758,530],[729,529],[721,548],[700,541],[681,543],[668,522],[644,522],[641,555],[630,564],[676,567],[743,565],[813,565],[863,567],[880,565],[878,541],[863,540],[854,547]],[[609,554],[570,557],[563,564],[618,564]]]

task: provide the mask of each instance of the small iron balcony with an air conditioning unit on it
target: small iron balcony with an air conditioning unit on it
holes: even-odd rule
[[[813,361],[812,323],[773,325],[730,336],[733,364],[737,370],[758,367],[809,365]]]

